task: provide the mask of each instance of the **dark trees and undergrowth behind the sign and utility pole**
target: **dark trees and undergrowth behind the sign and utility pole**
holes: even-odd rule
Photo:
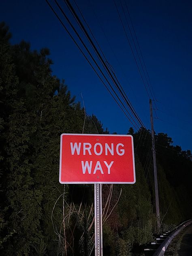
[[[0,254],[94,255],[94,186],[59,183],[60,134],[109,131],[52,75],[48,49],[10,38],[0,23]],[[156,233],[151,134],[128,134],[136,183],[102,187],[104,255],[136,255]],[[156,134],[164,230],[192,212],[191,152],[171,144]]]

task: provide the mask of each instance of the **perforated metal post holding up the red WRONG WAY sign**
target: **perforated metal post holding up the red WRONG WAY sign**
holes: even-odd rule
[[[102,184],[95,184],[95,256],[102,256]]]

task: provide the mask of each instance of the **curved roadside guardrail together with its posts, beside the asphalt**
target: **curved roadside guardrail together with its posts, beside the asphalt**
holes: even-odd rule
[[[163,256],[167,247],[173,240],[173,238],[186,226],[192,224],[192,219],[181,223],[173,231],[169,230],[163,235],[156,237],[156,241],[152,242],[148,248],[144,249],[145,256]]]

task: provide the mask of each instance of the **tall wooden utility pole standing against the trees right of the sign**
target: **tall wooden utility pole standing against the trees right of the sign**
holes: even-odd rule
[[[153,149],[153,160],[154,160],[154,181],[155,181],[155,202],[156,202],[156,216],[158,231],[160,230],[160,212],[159,212],[159,193],[158,193],[158,181],[157,181],[157,164],[156,164],[156,151],[155,151],[155,137],[154,137],[154,120],[152,102],[149,100],[150,106],[150,119],[151,119],[151,137],[152,137],[152,149]]]

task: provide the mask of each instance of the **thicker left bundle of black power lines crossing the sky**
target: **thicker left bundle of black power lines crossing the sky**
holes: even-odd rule
[[[126,117],[129,119],[133,127],[136,130],[139,130],[140,127],[145,128],[145,125],[143,124],[139,115],[135,111],[126,93],[124,92],[122,85],[117,79],[117,76],[115,75],[113,68],[107,61],[105,54],[103,53],[101,47],[96,41],[96,38],[92,33],[85,18],[83,17],[83,14],[81,13],[79,7],[77,6],[77,3],[74,1],[77,7],[77,11],[76,11],[75,8],[72,6],[72,4],[69,2],[69,0],[63,1],[65,4],[65,9],[61,7],[61,4],[59,4],[57,0],[53,1],[54,8],[53,8],[53,4],[50,4],[48,0],[46,0],[46,2],[51,8],[51,10],[53,11],[53,13],[55,14],[55,16],[58,18],[62,26],[65,28],[66,32],[72,38],[75,45],[81,51],[81,53],[83,54],[87,62],[90,64],[90,66],[92,67],[96,75],[99,77],[100,81],[105,85],[105,87],[107,88],[108,92],[111,94],[111,96],[113,97],[117,105],[122,109]],[[66,7],[68,8],[68,11],[69,11],[68,14],[66,14]],[[55,11],[55,8],[59,11],[60,15],[58,14],[58,11]],[[77,13],[78,11],[80,15],[78,15]],[[69,31],[65,23],[60,18],[61,15],[62,17],[65,18],[65,22],[67,22],[68,26],[70,26],[70,29],[72,29],[72,32]],[[71,15],[72,17],[69,18],[69,15]],[[81,20],[80,16],[83,18],[83,20]],[[71,21],[72,19],[73,19],[73,23],[75,21],[75,25],[72,23]],[[85,25],[83,24],[83,21]],[[77,29],[75,28],[75,26],[78,26],[80,28],[81,34],[77,32]],[[85,28],[85,26],[88,27],[88,30],[91,32],[91,35],[88,32],[88,30]],[[75,36],[72,33],[75,34]],[[98,45],[98,47],[96,45]],[[89,47],[91,47],[91,49]],[[104,58],[102,57],[102,55]]]

